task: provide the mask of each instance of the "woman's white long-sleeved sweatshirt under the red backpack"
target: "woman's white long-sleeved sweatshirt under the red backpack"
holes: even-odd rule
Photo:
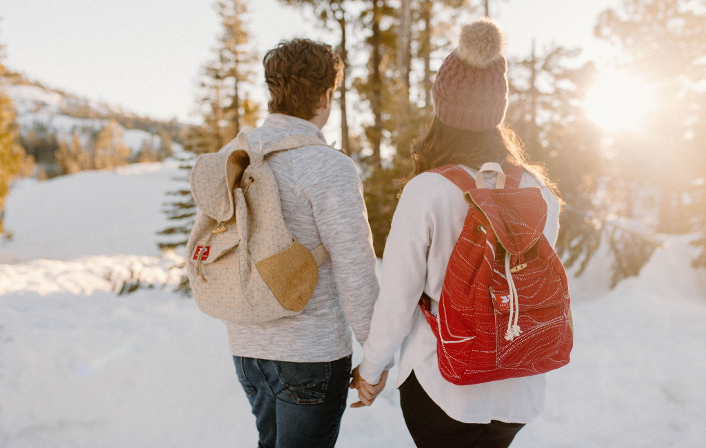
[[[467,171],[476,175],[476,171]],[[484,174],[484,181],[486,188],[493,188],[496,175]],[[547,202],[544,236],[554,245],[559,202],[533,176],[523,174],[520,187],[534,186],[542,188]],[[420,174],[405,187],[385,246],[380,296],[360,374],[376,384],[385,365],[401,349],[396,387],[414,370],[424,391],[455,420],[530,423],[544,408],[545,375],[467,386],[447,382],[438,368],[436,337],[417,306],[424,292],[432,299],[431,312],[436,315],[448,260],[468,207],[460,188],[441,174]]]

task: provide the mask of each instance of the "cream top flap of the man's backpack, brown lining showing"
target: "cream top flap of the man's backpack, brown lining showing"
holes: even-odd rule
[[[233,188],[239,185],[250,157],[244,150],[213,152],[198,156],[191,169],[191,196],[196,206],[217,222],[235,213]]]

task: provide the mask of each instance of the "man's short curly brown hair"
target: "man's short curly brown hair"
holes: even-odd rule
[[[309,39],[282,41],[263,59],[270,114],[311,120],[321,95],[343,79],[343,61],[330,45]]]

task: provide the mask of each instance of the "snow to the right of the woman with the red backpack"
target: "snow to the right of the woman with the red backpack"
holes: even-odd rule
[[[574,303],[572,361],[548,374],[520,447],[701,447],[706,440],[706,272],[669,238],[639,277]]]

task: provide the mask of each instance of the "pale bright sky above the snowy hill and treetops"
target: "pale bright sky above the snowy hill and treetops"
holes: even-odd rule
[[[210,59],[218,20],[210,0],[0,0],[6,66],[32,80],[157,119],[193,121],[201,65]],[[582,47],[605,60],[593,36],[601,11],[619,0],[507,0],[491,7],[507,53],[524,56],[532,39]],[[297,8],[251,0],[249,28],[259,54],[282,39],[335,44]],[[459,24],[460,26],[461,24]],[[458,27],[457,27],[458,28]],[[454,32],[456,32],[455,30]],[[255,98],[267,92],[258,85]]]

